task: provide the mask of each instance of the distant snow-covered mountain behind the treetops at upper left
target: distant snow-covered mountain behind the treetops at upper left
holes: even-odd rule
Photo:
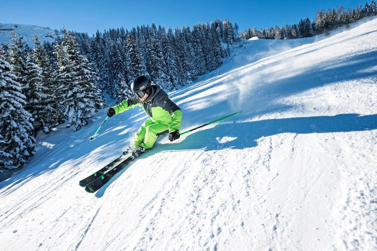
[[[37,25],[30,25],[30,24],[6,24],[0,23],[0,44],[7,44],[9,38],[11,38],[10,29],[14,28],[14,31],[17,35],[21,35],[24,37],[23,41],[30,47],[34,47],[33,42],[33,33],[37,34],[39,40],[42,42],[49,41],[50,43],[55,41],[57,35],[55,31],[50,29],[49,27],[41,27]]]

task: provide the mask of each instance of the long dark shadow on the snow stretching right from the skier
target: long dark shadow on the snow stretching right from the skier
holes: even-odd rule
[[[377,114],[339,114],[300,118],[265,119],[252,122],[231,122],[213,128],[193,131],[174,143],[158,145],[151,151],[177,151],[224,148],[244,149],[255,147],[257,139],[279,133],[336,133],[377,129]]]

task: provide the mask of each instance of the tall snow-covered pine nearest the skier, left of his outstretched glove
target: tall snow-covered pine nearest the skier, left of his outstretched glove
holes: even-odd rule
[[[64,109],[66,127],[77,131],[100,109],[103,97],[95,85],[97,77],[89,67],[89,61],[80,52],[75,37],[65,29],[57,47],[57,59],[60,73],[57,97]]]

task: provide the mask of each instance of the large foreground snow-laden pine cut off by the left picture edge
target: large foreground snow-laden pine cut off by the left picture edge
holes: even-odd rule
[[[33,118],[23,106],[25,95],[16,81],[13,66],[0,55],[0,167],[15,169],[34,152]]]

